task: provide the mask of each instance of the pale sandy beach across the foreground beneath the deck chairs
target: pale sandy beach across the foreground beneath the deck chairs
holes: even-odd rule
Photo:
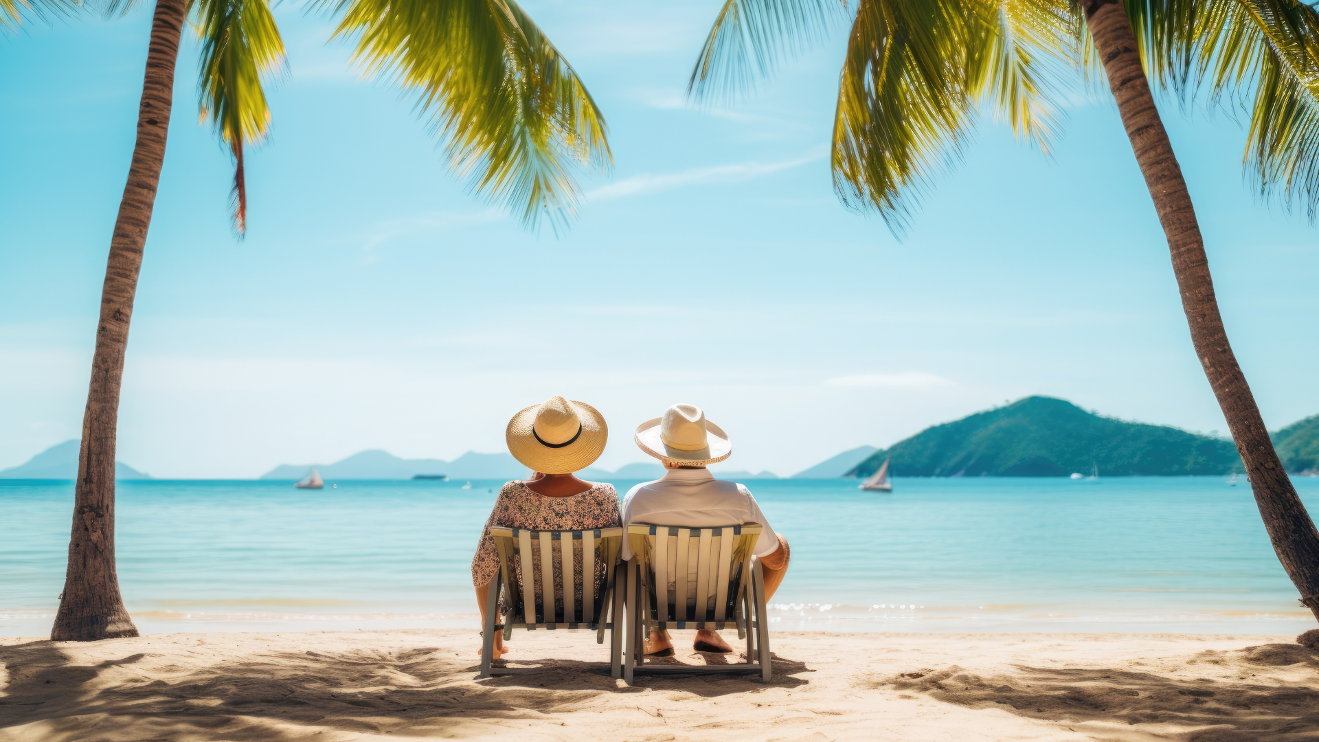
[[[518,675],[477,680],[460,630],[3,638],[0,739],[1319,738],[1319,652],[1291,636],[778,632],[773,683],[632,688],[594,634],[512,646]]]

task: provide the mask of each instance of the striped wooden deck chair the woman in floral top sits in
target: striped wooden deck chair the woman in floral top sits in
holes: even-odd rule
[[[499,549],[499,573],[491,580],[485,595],[485,626],[481,627],[481,675],[491,676],[495,631],[504,630],[504,640],[514,628],[592,628],[596,642],[604,643],[604,630],[612,639],[613,677],[623,675],[623,593],[616,581],[624,573],[619,564],[623,528],[587,531],[529,531],[526,528],[491,528]],[[575,545],[580,544],[578,549]],[[603,584],[596,584],[596,565],[605,566]],[[514,566],[516,565],[516,566]],[[559,566],[555,581],[555,565]],[[582,565],[582,580],[575,565]],[[517,566],[521,566],[521,576]],[[504,589],[508,615],[497,624],[499,594]],[[563,602],[555,599],[555,588]],[[537,594],[539,593],[539,595]]]

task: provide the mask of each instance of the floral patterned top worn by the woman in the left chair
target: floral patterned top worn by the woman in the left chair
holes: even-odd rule
[[[584,531],[620,525],[619,492],[613,485],[596,482],[590,490],[566,498],[550,498],[533,492],[526,482],[514,479],[504,485],[495,500],[495,508],[476,541],[472,557],[472,584],[488,585],[499,573],[499,551],[491,537],[491,527],[530,528],[536,531]],[[559,568],[555,561],[555,569]],[[598,565],[603,566],[603,565]],[[576,564],[580,569],[580,560]],[[562,599],[562,598],[559,598]]]

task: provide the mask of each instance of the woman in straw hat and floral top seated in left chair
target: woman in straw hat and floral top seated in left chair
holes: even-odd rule
[[[538,531],[578,531],[619,525],[619,492],[605,482],[586,482],[572,475],[591,466],[604,452],[609,429],[604,417],[584,401],[554,396],[533,404],[508,421],[504,438],[513,458],[532,471],[525,482],[513,481],[500,490],[472,557],[472,584],[476,605],[485,624],[485,594],[499,573],[499,552],[491,527],[530,528]],[[580,569],[580,562],[576,562]],[[596,580],[604,577],[605,565],[596,565]],[[555,562],[554,569],[562,569]],[[578,576],[580,580],[582,576]],[[555,584],[559,584],[555,580]],[[557,594],[555,602],[562,603]],[[495,634],[495,658],[504,648],[503,632]]]

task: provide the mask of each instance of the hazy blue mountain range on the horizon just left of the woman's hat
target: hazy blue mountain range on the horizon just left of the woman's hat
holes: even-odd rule
[[[398,458],[383,450],[364,450],[334,463],[281,463],[261,479],[302,479],[315,466],[323,479],[412,479],[417,474],[447,474],[450,479],[520,479],[526,467],[506,453],[467,452],[454,461]]]

